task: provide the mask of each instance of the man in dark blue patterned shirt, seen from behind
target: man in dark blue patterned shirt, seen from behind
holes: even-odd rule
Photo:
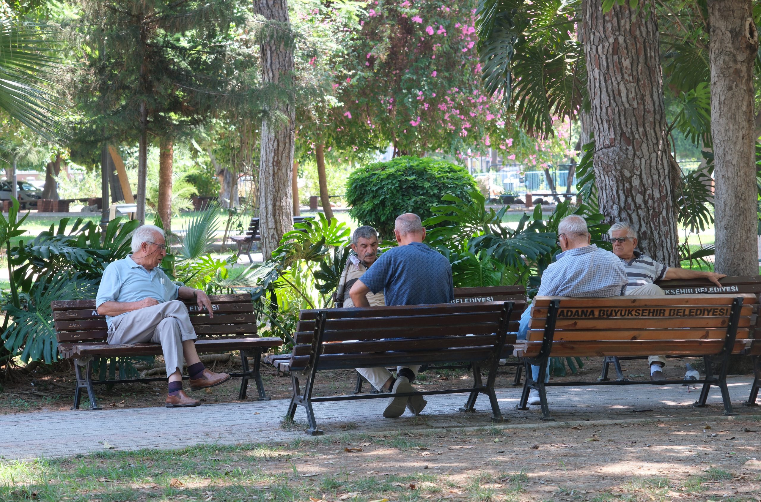
[[[449,260],[423,243],[425,228],[417,214],[396,218],[393,233],[398,247],[388,249],[354,283],[349,296],[355,307],[370,307],[368,293],[384,292],[387,305],[426,305],[454,300],[452,267]],[[412,382],[419,364],[396,368],[396,380],[386,368],[357,368],[378,390],[416,392]],[[422,396],[390,398],[383,416],[397,418],[408,408],[414,415],[428,404]]]

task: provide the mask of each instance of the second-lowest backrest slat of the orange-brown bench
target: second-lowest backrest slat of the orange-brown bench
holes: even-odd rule
[[[530,342],[541,342],[544,330],[531,329],[528,332]],[[582,331],[575,329],[556,330],[554,341],[579,340],[584,342],[626,342],[627,340],[673,340],[675,344],[680,340],[724,340],[727,335],[726,329],[610,329],[600,331]],[[748,338],[747,328],[737,329],[738,340]],[[554,342],[553,342],[554,344]],[[553,345],[554,347],[554,345]],[[552,349],[554,354],[554,348]]]

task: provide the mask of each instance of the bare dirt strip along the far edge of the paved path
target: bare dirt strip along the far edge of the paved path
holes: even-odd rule
[[[156,361],[161,361],[157,357]],[[584,367],[573,375],[566,369],[565,377],[552,377],[557,380],[586,380],[591,381],[600,376],[603,359],[589,357],[584,359]],[[695,359],[670,359],[664,369],[667,378],[681,379],[684,376],[685,364]],[[624,375],[632,380],[649,379],[647,361],[622,361]],[[240,366],[234,364],[210,364],[213,371],[233,373],[240,371]],[[495,383],[496,388],[510,387],[513,384],[515,367],[500,367]],[[613,367],[610,376],[615,377]],[[357,373],[354,370],[337,370],[318,373],[314,385],[315,396],[341,395],[354,391]],[[291,379],[288,374],[279,373],[274,367],[263,364],[262,379],[267,396],[272,399],[289,399],[291,397]],[[455,382],[454,380],[457,380]],[[416,381],[419,389],[434,390],[447,387],[460,387],[472,384],[473,377],[466,370],[428,370],[421,373]],[[74,370],[68,362],[57,364],[55,368],[41,367],[30,374],[11,371],[5,374],[5,380],[0,380],[0,413],[24,413],[29,411],[65,410],[72,406],[74,399]],[[117,384],[111,389],[105,385],[95,386],[98,405],[102,408],[142,408],[161,406],[166,399],[166,383],[163,381],[150,383]],[[221,386],[205,391],[190,392],[186,383],[186,392],[195,399],[206,403],[235,402],[240,389],[240,379],[233,378]],[[363,390],[367,392],[369,384],[364,383]],[[248,387],[249,399],[256,399],[256,385],[250,381]],[[83,399],[83,407],[88,406],[88,400]]]

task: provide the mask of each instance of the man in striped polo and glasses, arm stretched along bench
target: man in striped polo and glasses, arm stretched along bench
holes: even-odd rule
[[[613,253],[618,256],[626,267],[626,294],[632,296],[664,296],[664,291],[655,281],[667,279],[708,279],[719,288],[718,281],[724,274],[716,272],[701,272],[689,270],[689,268],[667,267],[656,262],[650,256],[637,251],[637,234],[628,223],[619,222],[613,224],[608,230],[610,240],[613,242]],[[663,368],[666,366],[666,356],[655,355],[648,357],[650,363],[651,380],[666,380]]]

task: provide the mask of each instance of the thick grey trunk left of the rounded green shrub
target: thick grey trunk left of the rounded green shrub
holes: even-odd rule
[[[291,89],[293,78],[293,47],[290,33],[288,2],[286,0],[254,0],[253,10],[271,25],[263,28],[265,36],[260,43],[262,82],[264,86]],[[295,143],[295,109],[293,103],[282,101],[275,108],[285,116],[287,123],[269,119],[262,120],[261,160],[259,174],[260,234],[263,259],[269,259],[283,234],[293,228],[293,200],[291,176],[293,176],[293,150]],[[275,110],[272,110],[274,112]],[[270,113],[270,116],[274,115]]]

